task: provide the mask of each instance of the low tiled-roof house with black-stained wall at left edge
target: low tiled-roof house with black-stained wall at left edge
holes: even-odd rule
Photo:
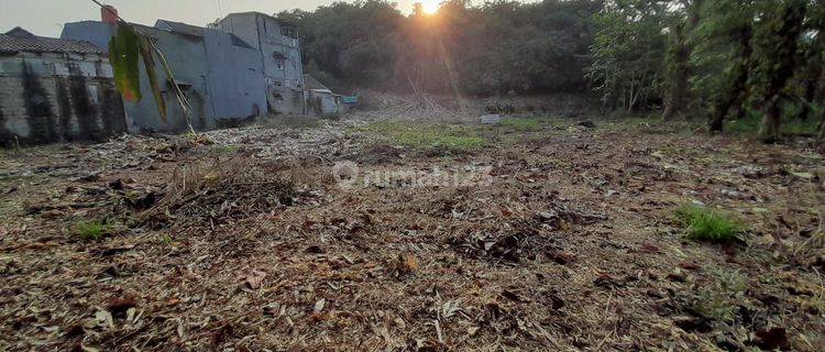
[[[0,34],[0,145],[99,141],[125,131],[103,48],[21,28]]]

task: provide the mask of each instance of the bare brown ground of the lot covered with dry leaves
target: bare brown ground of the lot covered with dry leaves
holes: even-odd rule
[[[642,120],[371,119],[3,151],[0,350],[825,345],[822,151]],[[344,189],[344,161],[486,174]],[[748,232],[686,240],[673,211],[700,202]]]

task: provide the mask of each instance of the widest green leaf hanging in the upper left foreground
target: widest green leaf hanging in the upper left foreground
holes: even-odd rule
[[[114,85],[127,101],[141,100],[140,35],[131,25],[118,25],[118,32],[109,41],[109,63],[114,70]]]

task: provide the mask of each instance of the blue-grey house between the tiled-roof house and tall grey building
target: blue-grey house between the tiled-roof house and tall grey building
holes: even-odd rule
[[[84,40],[108,50],[117,28],[117,18],[109,11],[113,9],[102,10],[102,21],[66,23],[61,37]],[[268,111],[261,53],[239,36],[166,20],[158,20],[154,26],[133,25],[164,53],[178,87],[193,106],[195,129],[232,125]],[[141,72],[145,77],[142,64]],[[124,105],[130,132],[180,132],[187,128],[170,80],[160,67],[156,74],[158,81],[165,82],[161,90],[167,100],[166,119],[158,113],[147,79],[142,79],[144,99]]]

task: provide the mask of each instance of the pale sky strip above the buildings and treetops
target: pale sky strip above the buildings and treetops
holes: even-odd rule
[[[314,10],[332,0],[103,0],[118,8],[130,22],[154,25],[157,19],[205,25],[231,12]],[[415,0],[395,0],[398,9],[409,13]],[[219,7],[220,4],[220,7]],[[57,37],[63,23],[100,20],[99,8],[91,0],[0,0],[0,33],[21,26],[41,36]]]

